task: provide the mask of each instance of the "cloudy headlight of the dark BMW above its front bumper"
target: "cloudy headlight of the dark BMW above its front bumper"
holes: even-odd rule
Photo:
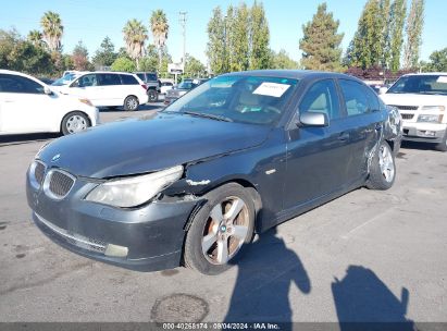
[[[182,174],[183,167],[177,166],[150,174],[111,180],[94,188],[86,200],[115,207],[136,207],[153,198]]]

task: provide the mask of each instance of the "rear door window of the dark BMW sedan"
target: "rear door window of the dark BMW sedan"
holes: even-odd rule
[[[367,88],[362,84],[349,79],[339,79],[338,82],[345,99],[348,117],[370,112]]]

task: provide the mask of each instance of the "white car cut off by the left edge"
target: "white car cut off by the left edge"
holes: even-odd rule
[[[95,126],[98,121],[98,109],[88,99],[64,96],[29,75],[0,70],[0,135],[66,135]]]

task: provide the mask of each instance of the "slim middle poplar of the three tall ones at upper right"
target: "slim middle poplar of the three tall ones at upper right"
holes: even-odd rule
[[[389,38],[390,38],[390,63],[389,69],[397,72],[400,69],[400,54],[403,45],[403,25],[407,16],[407,1],[394,0],[390,12]]]

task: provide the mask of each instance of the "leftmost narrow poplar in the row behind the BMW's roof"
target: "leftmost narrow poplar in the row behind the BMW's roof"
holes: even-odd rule
[[[225,19],[220,7],[213,9],[208,22],[207,57],[211,71],[219,75],[228,71],[225,42]]]

